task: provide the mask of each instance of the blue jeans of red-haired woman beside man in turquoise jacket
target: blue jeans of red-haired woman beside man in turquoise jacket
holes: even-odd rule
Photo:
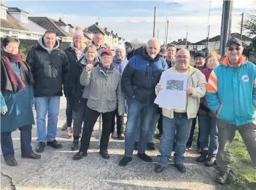
[[[201,130],[201,149],[210,157],[216,157],[218,153],[218,128],[216,123],[217,119],[211,118],[208,114],[198,116],[198,124]]]

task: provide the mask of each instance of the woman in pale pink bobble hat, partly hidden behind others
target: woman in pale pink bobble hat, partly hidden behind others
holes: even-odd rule
[[[67,47],[64,51],[67,54],[70,67],[72,68],[76,63],[80,62],[83,58],[83,51],[85,49],[85,37],[83,36],[83,29],[80,26],[75,28],[73,33],[73,42],[70,47]],[[67,108],[66,108],[66,117],[67,122],[63,125],[62,130],[68,130],[67,138],[72,138],[72,108],[70,106],[71,101],[71,92],[72,86],[69,86],[68,93],[66,94],[67,99]]]

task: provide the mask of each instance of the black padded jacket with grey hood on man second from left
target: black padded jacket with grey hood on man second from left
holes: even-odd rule
[[[62,96],[62,85],[64,93],[67,89],[67,55],[58,48],[58,41],[51,51],[43,45],[42,37],[38,39],[38,43],[38,46],[29,51],[26,59],[35,79],[34,96]]]

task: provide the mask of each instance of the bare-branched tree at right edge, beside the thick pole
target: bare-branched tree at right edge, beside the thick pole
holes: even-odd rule
[[[248,36],[256,35],[256,9],[250,13],[245,13],[243,18],[243,30],[247,31]]]

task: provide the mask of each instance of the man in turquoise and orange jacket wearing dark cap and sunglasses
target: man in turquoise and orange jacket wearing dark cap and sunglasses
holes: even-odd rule
[[[207,84],[206,101],[218,121],[219,149],[216,164],[219,173],[216,181],[224,184],[230,171],[230,145],[239,131],[252,164],[256,166],[256,66],[242,55],[240,39],[228,40],[226,53],[220,59]]]

